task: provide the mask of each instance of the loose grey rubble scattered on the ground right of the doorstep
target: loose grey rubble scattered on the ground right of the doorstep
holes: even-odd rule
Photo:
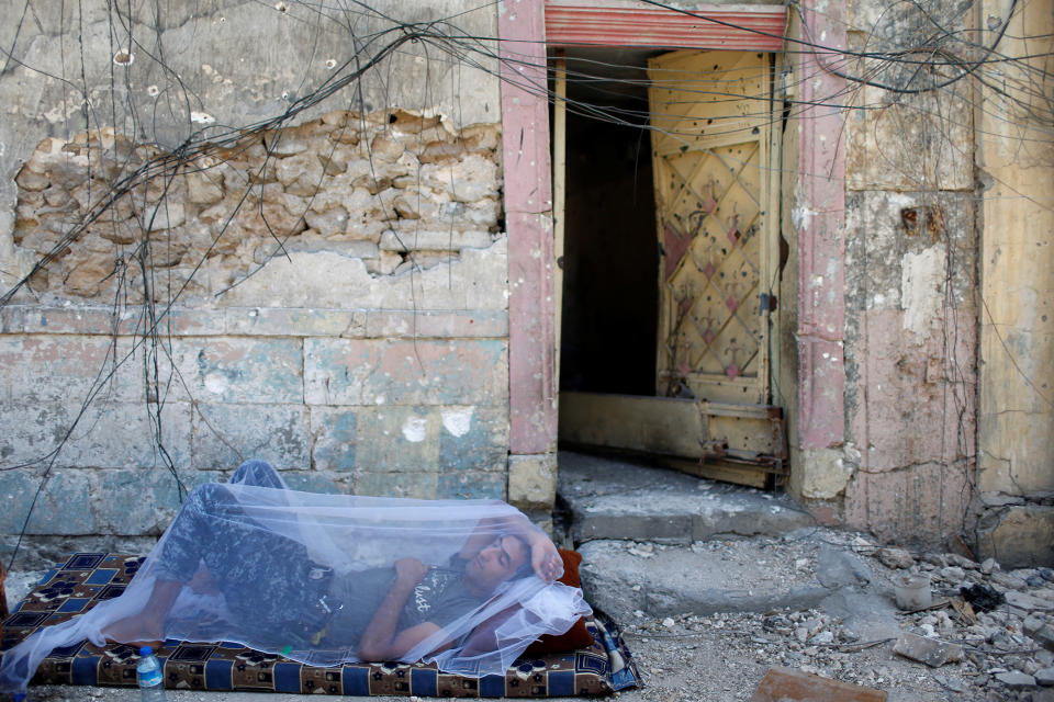
[[[772,666],[785,666],[888,690],[890,701],[1054,700],[1051,568],[1002,570],[991,559],[915,555],[844,532],[825,530],[820,535],[828,545],[831,539],[870,568],[865,589],[872,601],[894,601],[898,578],[915,574],[929,576],[932,603],[918,611],[890,607],[888,635],[877,638],[867,636],[866,629],[859,631],[855,618],[822,607],[665,618],[638,611],[625,633],[631,649],[639,652],[655,699],[749,699],[751,687],[736,684],[736,679],[752,680]],[[769,561],[763,568],[816,569],[817,540],[792,541],[707,542],[696,547],[724,546],[737,558],[753,547]],[[642,551],[641,544],[633,548]],[[781,557],[772,559],[776,554]]]

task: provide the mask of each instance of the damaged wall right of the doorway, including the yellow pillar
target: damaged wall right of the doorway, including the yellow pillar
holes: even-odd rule
[[[830,118],[821,107],[789,123],[787,149],[798,155],[800,174],[796,189],[785,190],[803,267],[799,317],[812,314],[817,299],[844,312],[842,336],[831,341],[843,349],[845,380],[844,411],[832,398],[820,411],[807,405],[821,396],[816,392],[792,404],[790,486],[821,520],[890,542],[968,546],[1006,565],[1034,565],[1054,557],[1046,384],[1054,360],[1044,331],[1054,292],[1054,158],[1049,87],[1035,79],[1049,59],[1030,59],[1031,68],[1008,61],[989,77],[1001,81],[996,91],[920,69],[917,41],[924,34],[930,44],[956,43],[956,33],[969,34],[974,57],[995,44],[1001,55],[1044,56],[1050,13],[1018,8],[1008,26],[1013,7],[962,0],[890,9],[856,0],[845,5],[845,46],[917,60],[828,60],[810,73],[803,66],[823,64],[822,55],[799,59],[803,100],[816,97],[814,80],[829,83],[838,73],[874,84],[846,78],[825,93],[846,95],[850,109],[836,113],[836,126],[809,124]],[[814,24],[803,36],[825,33],[838,45],[839,18],[823,24],[806,16]],[[1025,35],[1028,50],[1012,38]],[[844,149],[841,215],[818,201],[816,184],[837,180],[838,159],[807,162],[817,144],[832,141]],[[840,218],[840,227],[828,223],[817,237],[811,223],[822,216]],[[827,242],[825,256],[817,240]],[[822,287],[839,276],[844,296]],[[798,320],[793,328],[794,382],[836,392],[838,374],[803,359],[815,327]],[[843,428],[823,427],[838,417]]]

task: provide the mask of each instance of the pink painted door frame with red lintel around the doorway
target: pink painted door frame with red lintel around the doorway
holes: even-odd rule
[[[828,44],[844,46],[844,30],[838,18],[815,12],[812,0],[805,4],[803,10],[817,34],[826,30]],[[505,0],[498,5],[508,230],[511,453],[548,453],[557,446],[559,369],[556,367],[547,41],[552,45],[655,46],[659,43],[671,48],[780,50],[782,42],[776,37],[784,31],[783,11],[782,5],[699,7],[696,14],[725,18],[714,22],[713,27],[700,29],[697,18],[623,0]],[[743,12],[744,16],[733,14]],[[775,23],[774,16],[777,16]],[[753,23],[753,31],[738,29],[748,22]],[[640,31],[644,26],[648,32]],[[632,31],[635,27],[638,31]],[[832,36],[839,32],[841,37]],[[748,47],[744,42],[753,44]],[[816,72],[819,84],[801,81],[803,101],[840,94],[834,89],[833,76]],[[801,120],[798,154],[801,203],[808,215],[798,226],[801,417],[797,439],[803,448],[822,448],[843,440],[844,149],[839,147],[841,117],[837,111],[810,110],[812,114]]]

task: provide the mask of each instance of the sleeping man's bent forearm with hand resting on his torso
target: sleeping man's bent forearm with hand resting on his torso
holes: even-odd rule
[[[433,622],[423,622],[401,632],[395,631],[399,615],[406,605],[410,593],[426,573],[428,566],[417,558],[401,558],[395,562],[395,584],[381,600],[362,638],[359,639],[359,658],[368,661],[394,660],[441,629]]]

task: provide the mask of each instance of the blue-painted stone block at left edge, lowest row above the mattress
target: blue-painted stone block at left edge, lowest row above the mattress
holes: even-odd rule
[[[25,523],[30,505],[45,478],[30,471],[0,471],[0,496],[5,509],[0,510],[0,532],[19,533]],[[44,482],[26,525],[26,534],[80,535],[99,533],[91,513],[89,472],[53,469]]]

